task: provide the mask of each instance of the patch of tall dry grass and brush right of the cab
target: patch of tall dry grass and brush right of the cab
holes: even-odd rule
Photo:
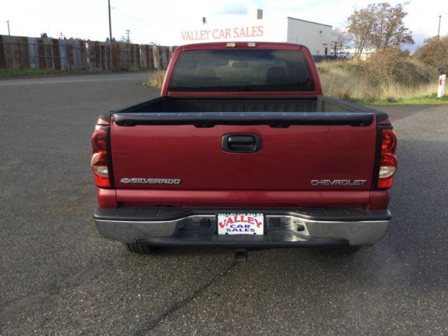
[[[317,64],[323,93],[344,100],[396,103],[437,92],[437,72],[396,53],[378,53],[367,61],[330,60]]]

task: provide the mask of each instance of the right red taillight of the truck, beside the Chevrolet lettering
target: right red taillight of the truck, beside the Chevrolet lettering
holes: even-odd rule
[[[382,130],[381,159],[379,161],[378,188],[390,188],[396,172],[396,136],[393,129]]]

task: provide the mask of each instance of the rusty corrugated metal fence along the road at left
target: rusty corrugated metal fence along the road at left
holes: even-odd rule
[[[0,69],[164,69],[174,48],[0,35]]]

